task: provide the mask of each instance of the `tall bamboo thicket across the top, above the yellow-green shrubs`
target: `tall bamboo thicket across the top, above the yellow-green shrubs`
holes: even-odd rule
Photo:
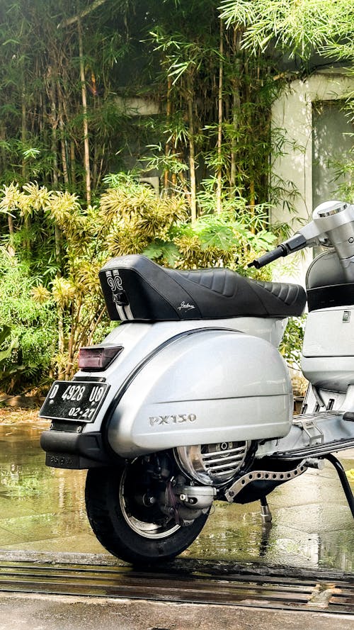
[[[84,198],[86,120],[93,197],[109,171],[144,164],[190,205],[193,174],[197,193],[222,176],[231,197],[291,204],[292,182],[269,177],[279,145],[270,108],[286,86],[279,60],[301,57],[304,73],[314,50],[352,61],[353,11],[350,0],[14,0],[0,25],[0,182],[35,179]],[[159,114],[141,116],[137,96]],[[34,230],[33,259],[45,246]]]

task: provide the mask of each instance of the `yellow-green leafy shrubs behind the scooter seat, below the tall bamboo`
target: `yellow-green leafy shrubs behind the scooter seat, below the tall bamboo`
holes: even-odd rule
[[[1,300],[0,322],[11,325],[11,335],[18,339],[8,361],[21,360],[28,380],[50,368],[59,377],[71,376],[79,347],[108,331],[98,283],[108,258],[136,252],[179,269],[228,265],[244,273],[246,263],[275,240],[263,206],[250,208],[239,199],[216,215],[208,212],[209,192],[205,213],[192,224],[185,193],[157,196],[135,176],[111,176],[109,181],[110,188],[89,208],[72,193],[38,184],[3,189],[0,208],[30,215],[44,233],[55,227],[62,234],[59,274],[47,262],[30,277],[31,261],[1,249],[0,292],[6,299]]]

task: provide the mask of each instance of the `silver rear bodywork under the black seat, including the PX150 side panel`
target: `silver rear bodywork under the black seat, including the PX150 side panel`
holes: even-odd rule
[[[76,373],[110,384],[84,432],[99,431],[107,415],[110,446],[125,457],[284,436],[292,417],[290,376],[277,349],[285,323],[236,317],[118,326],[102,344],[122,345],[118,359],[102,373]]]

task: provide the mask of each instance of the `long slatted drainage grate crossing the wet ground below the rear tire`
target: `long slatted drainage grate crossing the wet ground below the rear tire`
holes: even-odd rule
[[[132,599],[302,609],[354,614],[354,582],[286,575],[227,576],[147,573],[122,566],[30,562],[0,565],[0,592],[90,595]]]

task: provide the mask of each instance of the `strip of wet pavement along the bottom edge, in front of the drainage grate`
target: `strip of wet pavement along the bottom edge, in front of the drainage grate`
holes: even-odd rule
[[[0,599],[0,630],[353,630],[350,615],[213,604],[12,595]]]

